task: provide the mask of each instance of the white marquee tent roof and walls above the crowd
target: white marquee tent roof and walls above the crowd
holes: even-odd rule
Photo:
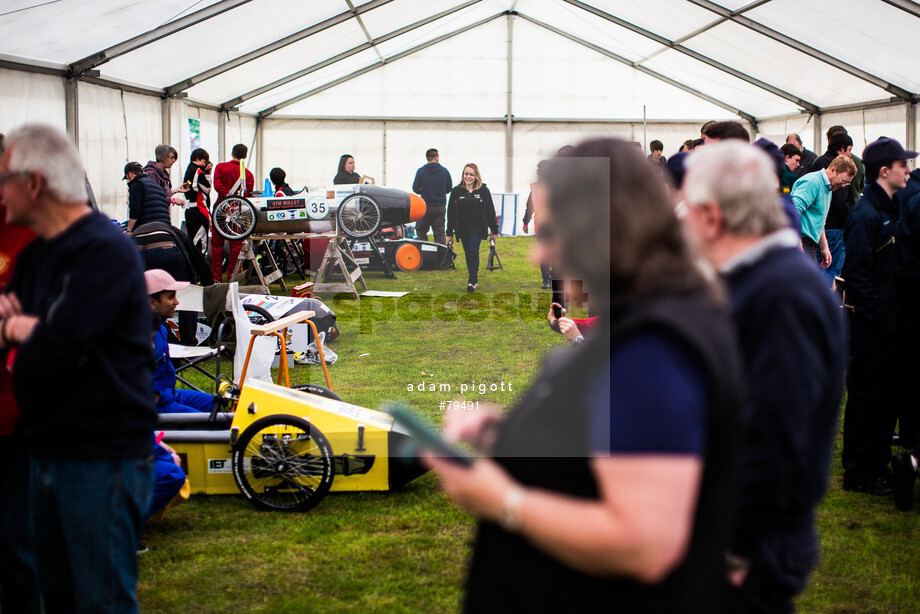
[[[101,208],[125,162],[250,146],[257,184],[331,183],[339,155],[408,189],[437,147],[526,194],[538,160],[591,135],[665,154],[709,119],[774,140],[846,126],[857,152],[916,148],[920,4],[910,0],[4,0],[0,132],[69,131]]]

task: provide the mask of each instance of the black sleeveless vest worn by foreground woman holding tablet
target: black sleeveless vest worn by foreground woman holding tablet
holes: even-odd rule
[[[731,526],[741,370],[728,319],[710,301],[685,295],[615,309],[588,341],[546,361],[533,388],[502,425],[493,454],[525,485],[599,498],[589,466],[588,374],[626,336],[647,330],[665,332],[696,357],[713,404],[686,557],[655,585],[625,577],[598,578],[567,567],[517,534],[482,522],[467,580],[467,612],[718,610]]]

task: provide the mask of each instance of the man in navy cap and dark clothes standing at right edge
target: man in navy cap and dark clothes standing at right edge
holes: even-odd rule
[[[850,319],[850,367],[843,420],[843,488],[871,495],[891,493],[891,433],[901,382],[897,359],[899,309],[895,194],[907,185],[905,151],[880,138],[863,152],[868,185],[847,220],[846,307]]]

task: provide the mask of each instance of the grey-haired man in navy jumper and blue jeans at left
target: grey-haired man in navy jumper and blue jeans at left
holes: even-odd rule
[[[6,221],[38,235],[0,295],[0,360],[14,360],[42,599],[48,612],[136,612],[156,426],[140,259],[87,206],[66,134],[28,125],[6,145]]]

